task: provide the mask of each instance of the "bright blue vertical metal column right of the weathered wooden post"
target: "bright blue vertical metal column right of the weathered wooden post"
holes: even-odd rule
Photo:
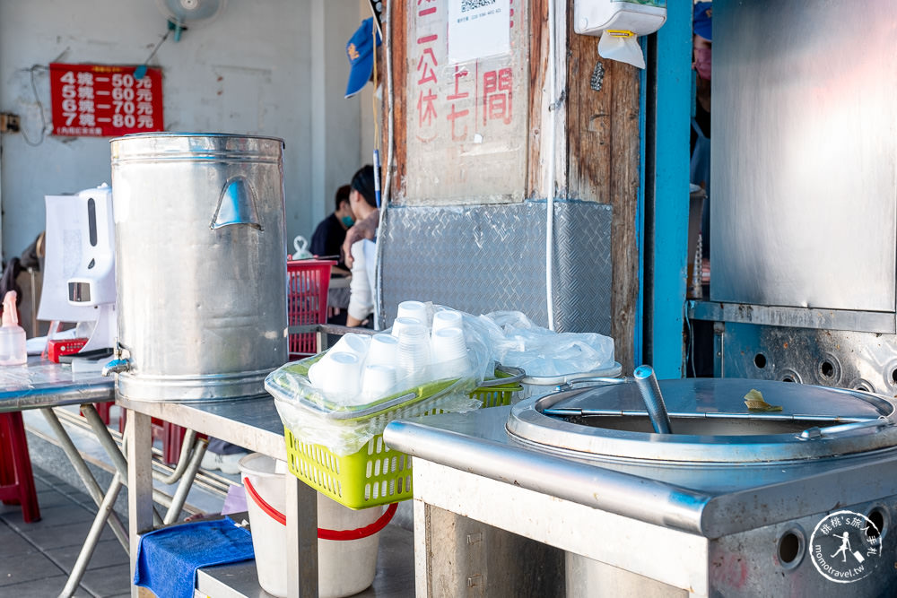
[[[653,226],[644,254],[650,277],[650,349],[645,360],[660,378],[683,375],[683,324],[689,207],[689,118],[692,112],[692,3],[666,3],[666,23],[657,33],[654,121]],[[649,127],[649,131],[650,131]],[[651,143],[647,143],[650,147]],[[653,248],[653,251],[651,251]],[[644,280],[644,279],[643,279]]]

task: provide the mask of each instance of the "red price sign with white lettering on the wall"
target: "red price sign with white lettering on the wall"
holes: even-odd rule
[[[50,65],[53,134],[117,137],[164,131],[162,72],[135,66]]]

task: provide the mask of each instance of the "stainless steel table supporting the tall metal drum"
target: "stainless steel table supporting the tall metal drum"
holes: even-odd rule
[[[250,451],[286,460],[283,424],[270,396],[206,403],[159,403],[118,399],[128,410],[126,429],[128,462],[128,524],[131,538],[131,576],[140,534],[152,530],[152,479],[150,452],[151,418],[221,438]],[[318,595],[318,493],[292,475],[286,479],[287,525],[286,562],[298,563],[287,568],[288,595]],[[299,514],[302,514],[300,517]],[[299,555],[302,559],[299,559]],[[139,588],[132,586],[132,596]]]

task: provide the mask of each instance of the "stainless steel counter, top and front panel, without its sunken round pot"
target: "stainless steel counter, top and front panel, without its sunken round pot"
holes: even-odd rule
[[[554,595],[513,584],[520,583],[524,570],[534,572],[544,562],[539,559],[555,559],[562,572],[563,552],[605,564],[602,575],[611,585],[622,583],[623,577],[616,577],[622,571],[627,583],[634,575],[652,587],[662,584],[666,594],[657,595],[712,595],[710,584],[723,573],[709,569],[711,557],[737,552],[738,571],[745,567],[739,583],[750,583],[748,570],[771,569],[784,579],[779,569],[785,566],[775,564],[780,558],[775,538],[797,527],[809,533],[835,507],[865,514],[892,500],[882,497],[897,495],[893,448],[860,454],[845,464],[818,459],[788,468],[774,462],[762,475],[757,473],[761,465],[729,467],[737,483],[720,488],[715,476],[677,483],[673,474],[682,478],[689,471],[666,471],[638,460],[589,464],[530,449],[509,438],[510,411],[493,407],[434,415],[393,421],[385,429],[388,446],[414,457],[418,596],[458,595],[475,585],[490,596]],[[525,559],[507,548],[512,534],[554,552]],[[888,554],[894,545],[887,533],[882,537]],[[797,576],[795,584],[826,584],[809,560],[785,574]],[[510,576],[496,580],[509,570]],[[894,576],[893,568],[878,571],[887,579]],[[530,577],[544,579],[551,570],[537,573]],[[562,585],[563,578],[558,582]],[[682,589],[669,594],[671,586]],[[858,587],[844,594],[839,584],[831,584],[815,595],[858,595]]]

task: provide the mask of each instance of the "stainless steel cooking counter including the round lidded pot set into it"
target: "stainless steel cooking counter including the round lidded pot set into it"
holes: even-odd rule
[[[619,378],[390,422],[384,442],[414,458],[418,590],[897,595],[897,400],[736,378],[658,389],[672,434]],[[781,411],[750,412],[752,389]]]

